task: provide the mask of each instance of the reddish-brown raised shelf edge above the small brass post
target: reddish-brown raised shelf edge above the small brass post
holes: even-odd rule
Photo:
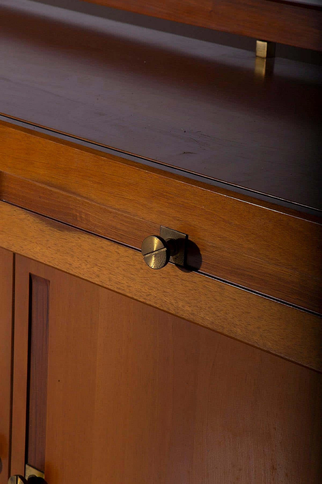
[[[281,44],[322,49],[322,12],[317,6],[270,0],[87,1]]]

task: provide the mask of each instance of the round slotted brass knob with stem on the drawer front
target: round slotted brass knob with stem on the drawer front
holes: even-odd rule
[[[149,235],[142,242],[141,252],[145,263],[151,269],[161,269],[168,264],[170,257],[176,254],[176,242],[165,241],[158,235]]]

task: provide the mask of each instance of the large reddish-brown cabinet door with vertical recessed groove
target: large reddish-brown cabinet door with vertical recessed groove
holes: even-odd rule
[[[12,474],[321,482],[319,373],[22,256],[15,281]]]

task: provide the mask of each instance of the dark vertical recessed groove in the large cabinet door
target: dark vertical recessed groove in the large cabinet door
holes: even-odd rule
[[[30,274],[27,462],[44,470],[47,413],[49,281]]]

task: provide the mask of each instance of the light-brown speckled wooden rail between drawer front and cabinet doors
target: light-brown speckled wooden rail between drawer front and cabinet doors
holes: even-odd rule
[[[173,264],[153,271],[139,251],[6,203],[0,204],[0,246],[286,359],[322,369],[322,319],[305,311],[196,272],[182,272]]]

